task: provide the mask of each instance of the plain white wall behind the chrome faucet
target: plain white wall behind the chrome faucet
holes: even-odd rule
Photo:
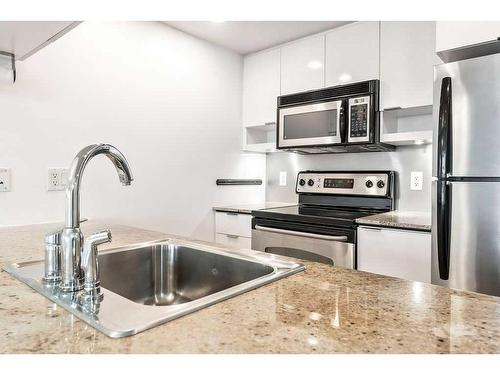
[[[107,142],[135,181],[109,161],[88,165],[82,216],[212,239],[213,205],[264,200],[265,156],[242,154],[242,60],[156,22],[84,22],[18,68],[0,87],[0,225],[62,221],[64,192],[47,192],[47,168],[67,167],[85,145]]]

